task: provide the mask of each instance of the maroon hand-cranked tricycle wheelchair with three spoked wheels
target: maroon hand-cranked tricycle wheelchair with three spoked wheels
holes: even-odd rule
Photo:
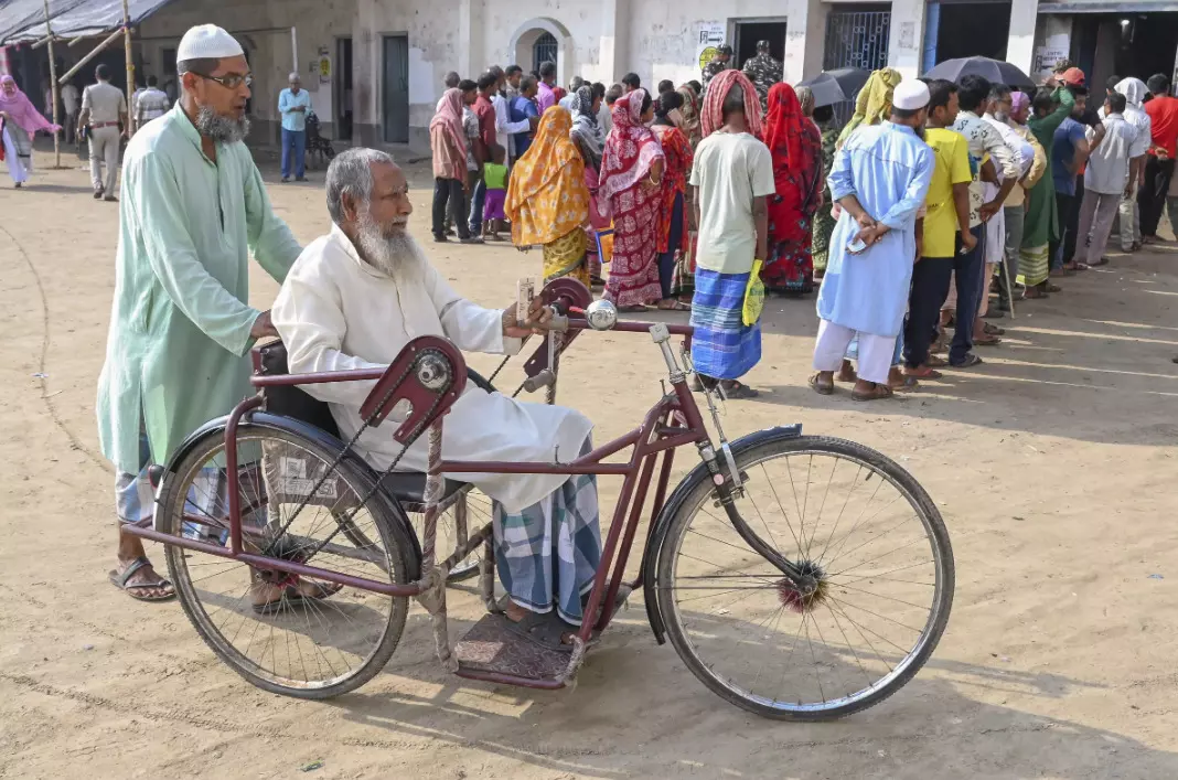
[[[254,350],[259,394],[188,437],[161,476],[154,523],[125,529],[167,546],[180,603],[217,655],[266,690],[335,696],[380,670],[415,596],[457,675],[561,688],[618,594],[641,589],[655,640],[670,639],[706,686],[757,714],[839,718],[902,687],[953,600],[948,535],[916,481],[879,452],[799,425],[729,443],[719,390],[704,391],[712,435],[688,385],[690,328],[620,322],[567,279],[541,295],[555,316],[524,371],[549,403],[561,353],[587,329],[648,331],[669,375],[637,428],[567,462],[444,458],[448,409],[468,382],[479,385],[472,392],[494,388],[443,338],[409,342],[386,369],[332,374],[289,375],[280,344]],[[673,335],[683,337],[679,355]],[[345,442],[326,405],[297,386],[356,381],[375,385]],[[377,472],[359,455],[360,434],[382,423],[406,448],[428,437],[426,474],[399,471],[397,460]],[[686,445],[701,463],[668,493]],[[607,462],[627,448],[627,460]],[[568,648],[531,642],[494,614],[490,503],[462,481],[476,472],[624,477],[588,594],[593,617]],[[647,505],[646,546],[628,575]],[[451,646],[446,583],[476,573],[491,614]]]

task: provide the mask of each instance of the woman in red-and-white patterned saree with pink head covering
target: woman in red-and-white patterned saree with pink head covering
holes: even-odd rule
[[[654,105],[646,90],[622,95],[611,112],[598,180],[600,207],[614,218],[614,256],[605,299],[622,311],[646,311],[662,298],[659,251],[662,176],[666,156],[646,123]]]

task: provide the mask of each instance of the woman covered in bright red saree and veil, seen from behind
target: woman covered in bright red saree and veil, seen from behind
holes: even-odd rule
[[[769,90],[765,144],[777,192],[768,204],[769,257],[761,279],[773,291],[807,293],[814,289],[810,226],[822,201],[822,138],[788,84]]]

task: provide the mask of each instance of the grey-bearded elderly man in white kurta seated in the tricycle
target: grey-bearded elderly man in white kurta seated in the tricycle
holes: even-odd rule
[[[409,185],[392,158],[353,148],[326,176],[331,232],[294,263],[272,309],[292,374],[388,365],[418,336],[443,336],[462,350],[511,355],[550,317],[538,302],[527,323],[515,305],[484,309],[462,298],[409,234]],[[324,401],[349,441],[363,427],[372,382],[304,385]],[[589,451],[590,421],[561,406],[523,403],[469,384],[446,416],[442,454],[474,461],[550,462]],[[402,451],[392,427],[368,428],[355,448],[377,470]],[[398,470],[424,472],[428,436]],[[548,647],[569,646],[583,594],[601,557],[597,485],[591,475],[466,474],[494,503],[495,563],[512,630]]]

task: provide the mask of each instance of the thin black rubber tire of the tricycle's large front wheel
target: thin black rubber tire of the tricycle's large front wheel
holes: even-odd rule
[[[754,437],[749,438],[753,439]],[[674,582],[676,553],[687,534],[690,522],[697,516],[699,508],[703,502],[715,497],[710,476],[706,469],[701,468],[688,475],[687,480],[690,481],[689,484],[683,484],[676,490],[676,495],[682,498],[675,507],[669,508],[673,514],[669,516],[666,531],[660,540],[655,566],[657,580],[654,584],[656,586],[655,593],[657,594],[657,610],[676,653],[679,653],[691,673],[710,690],[742,709],[769,719],[787,721],[836,720],[873,707],[892,696],[927,662],[945,632],[952,609],[955,576],[953,551],[948,531],[940,513],[937,510],[937,505],[916,480],[894,461],[871,448],[846,439],[825,436],[782,435],[768,438],[759,436],[755,441],[744,444],[740,441],[734,442],[732,450],[736,465],[742,472],[749,464],[767,462],[779,456],[823,452],[868,465],[875,472],[892,482],[908,498],[909,504],[920,517],[932,542],[937,576],[939,577],[934,606],[919,647],[905,659],[905,666],[900,673],[893,675],[886,683],[861,698],[829,708],[794,709],[769,706],[754,698],[741,695],[732,686],[724,685],[709,668],[709,665],[695,652],[694,645],[688,639],[687,630],[680,619],[679,609],[671,603],[671,599],[662,595],[664,589],[673,587],[668,583]],[[748,549],[748,553],[752,553],[752,549]]]

